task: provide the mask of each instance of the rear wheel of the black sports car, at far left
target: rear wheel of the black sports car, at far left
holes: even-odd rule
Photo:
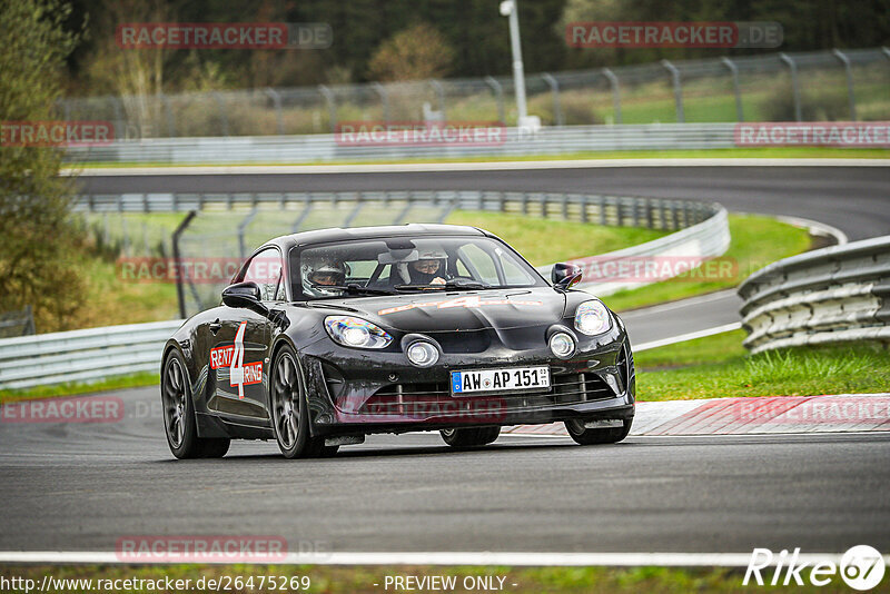
[[[230,439],[198,437],[195,404],[188,389],[190,385],[185,358],[178,350],[171,350],[164,362],[160,376],[167,445],[179,459],[221,458],[229,449]]]

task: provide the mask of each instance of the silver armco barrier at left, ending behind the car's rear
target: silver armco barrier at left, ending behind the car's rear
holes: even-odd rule
[[[152,321],[0,340],[0,388],[157,372],[164,343],[181,325]]]

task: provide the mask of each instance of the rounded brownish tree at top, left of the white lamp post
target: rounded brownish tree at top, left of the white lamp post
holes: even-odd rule
[[[376,80],[422,80],[445,76],[454,51],[445,38],[427,23],[404,29],[383,43],[368,69]]]

